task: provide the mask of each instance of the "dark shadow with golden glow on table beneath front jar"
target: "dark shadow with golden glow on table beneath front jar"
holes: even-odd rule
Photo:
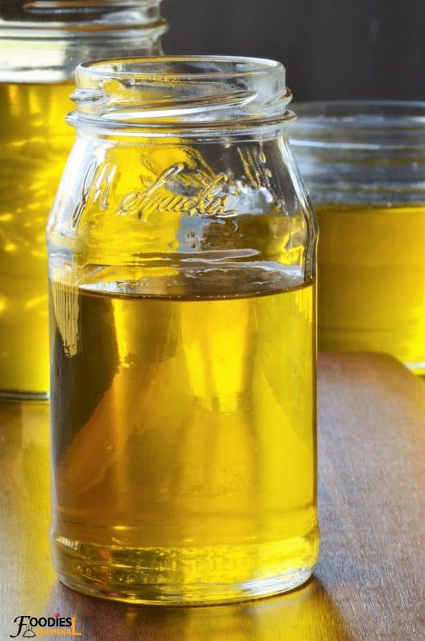
[[[299,590],[245,604],[197,608],[130,606],[79,595],[57,583],[49,610],[76,617],[84,640],[346,641],[331,598],[313,577]]]

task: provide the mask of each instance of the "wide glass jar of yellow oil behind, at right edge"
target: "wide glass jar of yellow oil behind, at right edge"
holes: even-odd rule
[[[425,103],[297,105],[290,143],[320,227],[322,350],[425,373]]]

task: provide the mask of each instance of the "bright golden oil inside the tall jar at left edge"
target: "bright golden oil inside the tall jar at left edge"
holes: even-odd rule
[[[71,85],[0,83],[0,393],[46,393],[44,228],[74,137]]]

